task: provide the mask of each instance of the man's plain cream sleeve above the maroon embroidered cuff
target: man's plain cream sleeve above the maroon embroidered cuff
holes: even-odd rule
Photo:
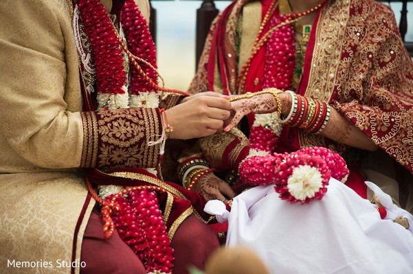
[[[79,166],[82,154],[80,112],[69,112],[65,101],[68,92],[80,97],[66,83],[66,58],[75,58],[65,55],[70,21],[58,2],[0,2],[1,142],[45,168]]]

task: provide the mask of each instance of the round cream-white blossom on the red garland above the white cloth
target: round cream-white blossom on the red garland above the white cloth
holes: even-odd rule
[[[290,194],[300,201],[307,197],[313,198],[322,187],[320,171],[309,165],[298,166],[287,180],[287,188]]]

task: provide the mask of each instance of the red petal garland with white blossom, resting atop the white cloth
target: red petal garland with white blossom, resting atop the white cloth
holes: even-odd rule
[[[275,184],[280,198],[290,203],[310,203],[322,199],[331,177],[348,175],[343,158],[324,147],[309,147],[293,153],[252,156],[240,166],[246,184]]]

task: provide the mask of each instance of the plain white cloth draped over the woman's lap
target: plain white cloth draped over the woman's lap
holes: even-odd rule
[[[271,273],[413,273],[412,233],[335,179],[310,204],[257,186],[235,197],[229,214],[216,208],[205,211],[227,218],[227,246],[251,247]]]

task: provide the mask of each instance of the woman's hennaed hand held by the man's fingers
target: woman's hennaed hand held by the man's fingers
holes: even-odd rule
[[[249,93],[247,93],[247,95],[250,96]],[[238,97],[243,99],[236,99]],[[225,132],[229,132],[232,128],[236,127],[243,116],[249,113],[265,114],[278,110],[276,97],[271,93],[263,93],[246,98],[245,95],[234,96],[231,97],[231,101],[233,117],[230,123],[224,128]]]

